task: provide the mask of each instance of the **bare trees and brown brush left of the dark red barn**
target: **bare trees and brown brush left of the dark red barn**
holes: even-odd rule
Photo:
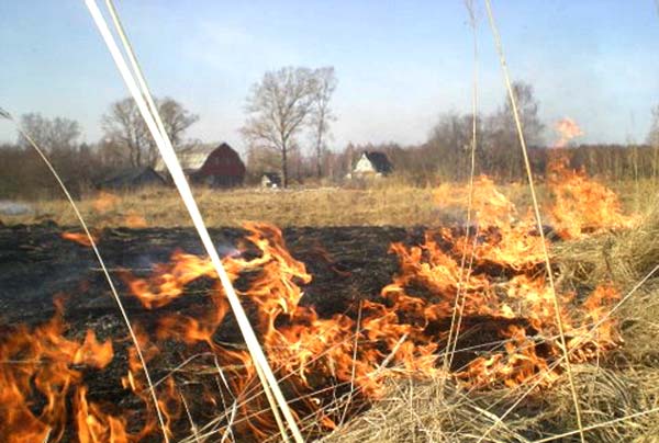
[[[193,144],[186,130],[199,120],[181,103],[156,99],[163,124],[175,148]],[[156,145],[133,99],[112,103],[101,117],[103,135],[94,144],[81,141],[80,124],[65,117],[47,118],[38,113],[20,117],[23,130],[46,152],[55,170],[75,195],[116,170],[153,167]],[[38,198],[59,195],[54,178],[27,140],[0,145],[0,198]]]

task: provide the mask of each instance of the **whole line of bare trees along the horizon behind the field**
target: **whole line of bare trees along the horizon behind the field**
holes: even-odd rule
[[[524,180],[524,166],[507,96],[491,114],[446,112],[437,118],[424,143],[348,144],[332,146],[332,109],[337,88],[333,67],[316,69],[284,67],[269,71],[253,86],[245,100],[245,122],[239,129],[247,147],[248,184],[263,172],[281,173],[284,185],[340,182],[362,151],[383,151],[395,174],[415,185],[466,180],[471,156],[472,125],[476,123],[477,173],[500,181]],[[513,84],[534,172],[544,175],[548,152],[546,126],[539,117],[540,103],[533,86]],[[165,128],[176,149],[199,144],[187,130],[199,115],[171,98],[156,100]],[[112,103],[101,118],[103,135],[98,143],[81,143],[78,122],[46,118],[41,114],[21,116],[23,129],[48,154],[56,170],[76,193],[113,170],[154,166],[158,150],[133,99]],[[652,125],[641,145],[580,145],[570,147],[574,168],[613,180],[659,179],[659,105],[652,110]],[[0,198],[34,198],[57,195],[53,178],[26,140],[0,146]]]

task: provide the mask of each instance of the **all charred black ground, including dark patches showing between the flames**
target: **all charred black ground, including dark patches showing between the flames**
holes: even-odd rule
[[[143,404],[121,387],[121,377],[127,371],[125,350],[130,341],[126,339],[126,328],[93,251],[63,239],[62,234],[68,230],[77,231],[52,223],[0,227],[0,341],[16,325],[33,327],[46,322],[55,314],[54,297],[63,296],[64,318],[69,326],[68,337],[82,338],[87,329],[93,329],[99,339],[112,338],[114,342],[115,356],[110,365],[102,372],[85,372],[89,399],[103,405],[110,404],[110,413],[113,413],[112,408],[139,410]],[[321,317],[330,317],[336,313],[354,315],[356,302],[380,298],[381,288],[391,283],[392,276],[399,271],[398,258],[389,253],[390,245],[399,241],[409,246],[422,243],[424,230],[423,227],[283,229],[288,250],[294,259],[305,263],[308,272],[313,276],[312,282],[303,286],[301,305],[313,306]],[[245,234],[246,231],[235,228],[211,229],[211,237],[221,253],[228,253],[239,247]],[[157,309],[157,313],[145,309],[136,298],[130,296],[121,279],[125,270],[137,276],[149,275],[154,264],[168,262],[177,250],[204,255],[201,242],[192,229],[116,228],[98,232],[98,237],[103,260],[111,270],[133,323],[138,323],[148,332],[156,327],[160,314],[181,313],[194,317],[196,313],[203,313],[209,306],[208,289],[213,284],[209,279],[191,283],[186,287],[186,296]],[[485,272],[500,276],[505,274],[502,269]],[[237,284],[239,287],[239,280]],[[249,311],[249,307],[247,310]],[[476,340],[488,343],[498,337],[498,330],[510,320],[466,318],[463,321],[469,333],[465,333],[460,342]],[[528,328],[524,319],[515,321]],[[433,328],[447,330],[448,323],[436,323]],[[243,347],[233,316],[227,315],[214,340],[235,343],[236,348]],[[196,352],[181,343],[172,342],[165,344],[160,351],[149,362],[154,379],[169,374],[171,368]],[[197,352],[204,352],[204,348],[201,347]],[[456,357],[454,363],[459,367],[477,355],[477,351],[469,351]],[[202,378],[196,375],[194,380],[186,380],[186,386],[194,391],[199,387],[197,385],[214,383],[213,379]],[[288,394],[291,397],[294,395]],[[33,408],[38,410],[38,401]],[[213,416],[208,413],[204,408],[193,411],[198,423],[212,420]],[[175,424],[175,430],[177,428],[185,435],[186,421]],[[65,441],[70,440],[70,435],[67,435],[65,434]]]

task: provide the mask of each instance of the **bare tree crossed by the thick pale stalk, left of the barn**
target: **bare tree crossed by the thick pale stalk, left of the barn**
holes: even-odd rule
[[[199,116],[192,114],[174,99],[156,99],[163,125],[175,148],[183,141],[183,134]],[[146,127],[134,99],[123,99],[110,105],[101,125],[107,143],[115,146],[116,152],[124,152],[133,167],[154,166],[158,149]]]

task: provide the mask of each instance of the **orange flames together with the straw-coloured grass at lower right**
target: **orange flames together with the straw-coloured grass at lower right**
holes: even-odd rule
[[[610,313],[654,265],[659,225],[652,217],[625,216],[615,195],[581,172],[557,167],[556,174],[548,234],[560,268],[559,315],[584,425],[594,427],[589,438],[596,441],[647,435],[654,429],[650,416],[629,416],[651,410],[659,399],[651,345],[655,283]],[[574,431],[554,294],[534,220],[487,178],[477,190],[473,226],[432,229],[416,245],[393,243],[399,271],[391,282],[340,311],[302,304],[314,276],[277,228],[246,225],[247,236],[224,264],[306,438],[528,441]],[[466,194],[446,185],[433,197],[435,205],[459,214],[450,208]],[[576,213],[580,205],[597,216]],[[625,230],[632,226],[640,229]],[[627,252],[635,246],[643,253]],[[206,285],[201,304],[171,308],[199,291],[197,285],[215,280],[209,261],[177,252],[148,274],[123,271],[122,280],[155,319],[150,326],[136,323],[148,364],[161,362],[167,343],[176,343],[183,362],[156,384],[168,432],[190,442],[277,439],[248,353],[239,342],[220,339],[233,325],[222,288]],[[456,306],[457,323],[451,321]],[[60,325],[53,321],[48,325]],[[4,404],[15,404],[0,409],[5,441],[157,438],[134,349],[115,351],[125,341],[100,342],[90,330],[85,340],[71,342],[62,326],[55,338],[40,332],[48,326],[30,333],[21,328],[9,328],[0,357],[38,363],[2,370]],[[52,355],[53,348],[60,351]],[[86,376],[102,376],[118,357],[125,361],[121,384],[132,399],[121,408],[92,398],[85,384]]]

